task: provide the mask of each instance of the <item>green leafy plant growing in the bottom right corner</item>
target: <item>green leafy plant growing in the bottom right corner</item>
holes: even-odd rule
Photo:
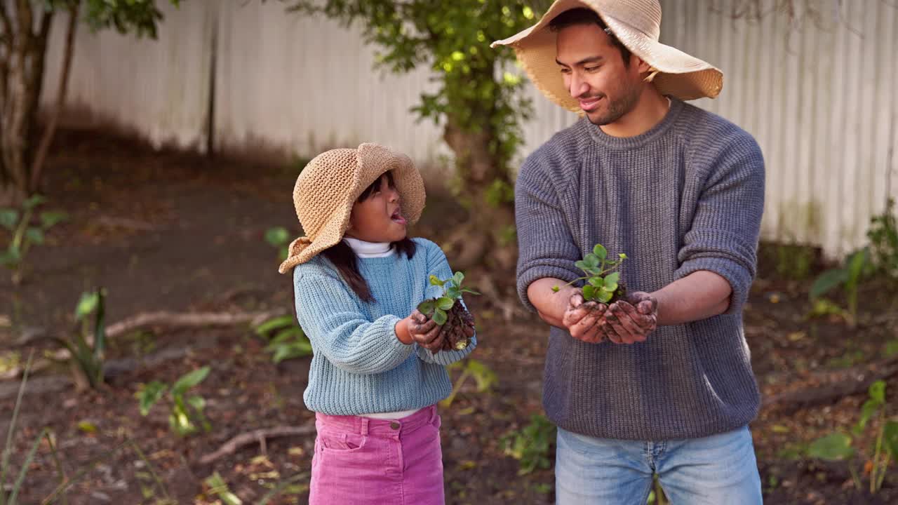
[[[876,443],[867,453],[870,459],[867,465],[870,468],[869,490],[876,493],[883,485],[885,471],[889,464],[898,459],[898,421],[890,420],[886,415],[888,404],[885,402],[885,381],[877,380],[870,385],[867,391],[867,402],[860,409],[858,423],[851,429],[851,433],[834,431],[829,435],[814,440],[808,447],[807,455],[827,461],[847,461],[851,478],[858,490],[863,489],[858,469],[853,464],[855,456],[864,455],[864,451],[854,447],[855,439],[864,435],[869,421],[877,418]],[[870,454],[872,453],[872,454]]]

